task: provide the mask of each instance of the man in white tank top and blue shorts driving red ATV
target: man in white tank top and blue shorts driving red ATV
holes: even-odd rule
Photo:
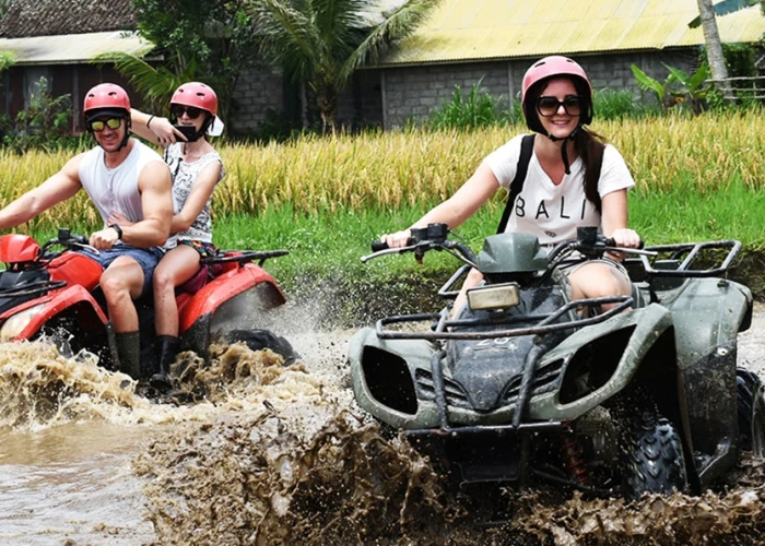
[[[23,224],[84,189],[104,219],[91,234],[104,266],[101,288],[116,333],[120,370],[141,371],[138,312],[133,299],[151,286],[173,217],[170,173],[162,156],[130,138],[130,99],[118,85],[103,83],[85,95],[83,115],[98,146],[76,155],[54,176],[0,210],[0,228]],[[132,224],[108,225],[111,213]]]

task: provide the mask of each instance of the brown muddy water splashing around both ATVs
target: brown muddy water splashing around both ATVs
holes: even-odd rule
[[[740,358],[765,377],[756,311]],[[162,402],[86,356],[0,346],[0,544],[762,544],[765,467],[750,460],[702,497],[506,495],[493,507],[509,521],[476,526],[354,405],[351,333],[304,317],[280,324],[297,365],[242,346],[208,369],[187,355],[183,395]]]

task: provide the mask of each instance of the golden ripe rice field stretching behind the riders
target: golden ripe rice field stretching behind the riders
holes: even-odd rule
[[[592,129],[622,152],[633,171],[637,182],[631,197],[633,223],[658,233],[675,228],[698,233],[699,226],[706,229],[731,222],[751,232],[765,223],[761,197],[765,117],[761,112],[608,121]],[[296,218],[342,211],[419,214],[448,197],[489,152],[523,130],[521,126],[474,132],[411,130],[305,136],[283,144],[221,143],[227,176],[215,194],[214,213],[219,219],[262,219],[273,211],[290,211]],[[1,203],[45,180],[71,155],[0,152]],[[694,217],[707,214],[699,204],[709,201],[715,202],[710,205],[714,217]],[[98,222],[84,195],[56,206],[27,227],[69,225],[73,218],[79,225]],[[280,218],[283,222],[283,213]],[[753,233],[742,237],[757,238]]]

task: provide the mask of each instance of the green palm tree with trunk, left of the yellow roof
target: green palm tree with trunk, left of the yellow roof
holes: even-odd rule
[[[381,11],[379,0],[258,0],[250,15],[263,56],[310,87],[325,130],[334,132],[338,95],[353,71],[411,34],[438,2],[401,0]]]

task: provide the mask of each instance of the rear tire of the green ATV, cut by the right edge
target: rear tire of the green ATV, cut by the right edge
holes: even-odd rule
[[[739,448],[755,456],[765,456],[765,396],[756,373],[743,368],[735,370],[739,408]]]

